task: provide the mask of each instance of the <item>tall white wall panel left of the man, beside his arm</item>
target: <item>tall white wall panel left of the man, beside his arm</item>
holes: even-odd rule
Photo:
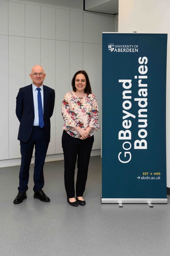
[[[16,96],[25,85],[25,38],[9,36],[9,158],[20,157]]]

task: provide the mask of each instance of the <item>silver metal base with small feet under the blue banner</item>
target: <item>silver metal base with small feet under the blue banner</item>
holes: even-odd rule
[[[148,204],[149,207],[153,207],[152,204],[167,204],[168,198],[102,198],[102,204],[119,204],[122,208],[122,204]]]

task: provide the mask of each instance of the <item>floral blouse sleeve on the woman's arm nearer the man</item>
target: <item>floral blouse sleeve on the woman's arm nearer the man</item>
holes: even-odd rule
[[[70,127],[75,127],[76,122],[71,118],[70,115],[70,93],[66,93],[62,100],[61,114],[64,119],[63,130],[69,130]]]

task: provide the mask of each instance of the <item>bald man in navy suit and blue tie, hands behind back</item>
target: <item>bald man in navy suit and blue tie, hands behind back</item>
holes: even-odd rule
[[[20,121],[18,140],[20,140],[21,148],[21,167],[18,195],[13,201],[14,204],[20,204],[27,198],[26,191],[28,190],[29,169],[34,146],[34,198],[43,202],[50,201],[42,188],[44,187],[43,167],[50,142],[50,118],[54,110],[55,91],[43,85],[45,76],[43,67],[34,66],[30,74],[33,83],[20,88],[16,98],[16,115]],[[38,93],[41,93],[39,99],[41,98],[42,119],[44,119],[41,127],[39,126],[42,119],[40,118]],[[40,122],[39,119],[41,119]]]

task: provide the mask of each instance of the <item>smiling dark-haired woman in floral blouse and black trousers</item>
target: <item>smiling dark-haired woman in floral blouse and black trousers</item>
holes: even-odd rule
[[[93,132],[99,129],[98,104],[95,95],[92,94],[88,75],[84,70],[75,73],[72,78],[72,88],[73,91],[66,93],[62,101],[64,183],[68,203],[72,206],[78,206],[78,204],[84,206],[86,202],[83,193],[94,141]],[[78,171],[75,199],[76,160]]]

